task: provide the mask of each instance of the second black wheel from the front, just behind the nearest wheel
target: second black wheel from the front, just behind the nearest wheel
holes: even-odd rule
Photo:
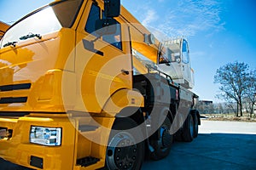
[[[150,158],[152,160],[158,161],[169,155],[173,141],[173,135],[169,133],[171,126],[170,119],[166,117],[157,132],[159,133],[159,139],[150,140],[150,144],[154,148],[154,152],[150,153]]]

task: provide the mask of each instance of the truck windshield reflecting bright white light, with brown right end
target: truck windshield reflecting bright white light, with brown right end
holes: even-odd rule
[[[3,36],[1,48],[5,44],[20,42],[27,35],[44,36],[50,32],[59,31],[62,27],[71,27],[79,12],[83,0],[68,0],[51,3],[48,6],[26,15],[15,23]]]

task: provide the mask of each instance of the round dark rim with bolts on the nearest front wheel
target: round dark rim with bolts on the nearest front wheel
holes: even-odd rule
[[[124,154],[125,153],[125,154]],[[107,150],[109,169],[131,169],[137,160],[137,144],[130,133],[114,135]]]

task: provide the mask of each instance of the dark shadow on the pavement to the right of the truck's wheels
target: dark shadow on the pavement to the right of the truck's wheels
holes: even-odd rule
[[[143,170],[256,169],[256,135],[199,134],[192,143],[174,143],[168,157],[145,161]]]

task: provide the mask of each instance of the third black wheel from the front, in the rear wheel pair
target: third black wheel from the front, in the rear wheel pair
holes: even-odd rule
[[[183,141],[192,142],[194,139],[194,120],[191,114],[188,115],[183,125]]]

